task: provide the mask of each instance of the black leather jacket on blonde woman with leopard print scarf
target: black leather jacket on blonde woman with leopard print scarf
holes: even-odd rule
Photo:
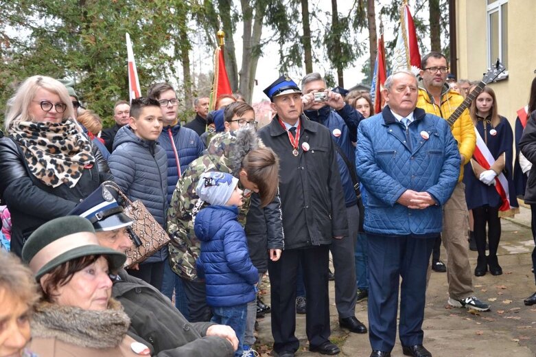
[[[31,174],[19,144],[0,139],[0,196],[11,213],[13,253],[20,257],[24,242],[41,224],[67,215],[102,182],[113,180],[100,150],[91,146],[97,165],[85,169],[73,188],[50,187]]]

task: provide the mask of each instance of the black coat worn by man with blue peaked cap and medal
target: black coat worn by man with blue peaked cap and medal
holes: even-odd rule
[[[277,116],[258,135],[279,156],[285,249],[331,244],[334,236],[347,236],[345,198],[329,130],[302,115],[297,157]],[[305,152],[303,143],[309,146]]]

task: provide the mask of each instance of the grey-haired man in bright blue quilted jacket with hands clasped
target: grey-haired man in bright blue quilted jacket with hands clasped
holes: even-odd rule
[[[371,357],[391,356],[397,332],[406,356],[423,347],[426,272],[441,233],[442,206],[460,173],[460,154],[444,119],[417,106],[417,78],[397,71],[384,84],[382,113],[358,128],[356,168],[366,187]]]

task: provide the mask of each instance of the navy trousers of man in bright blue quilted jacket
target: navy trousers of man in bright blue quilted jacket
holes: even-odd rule
[[[426,272],[435,237],[367,233],[367,238],[369,340],[372,349],[391,352],[395,345],[400,277],[400,342],[404,346],[422,345]]]

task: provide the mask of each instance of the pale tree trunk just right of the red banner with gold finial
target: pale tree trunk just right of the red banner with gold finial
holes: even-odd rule
[[[242,14],[244,15],[244,36],[242,37],[243,51],[239,91],[244,96],[244,100],[250,103],[253,97],[257,63],[261,54],[259,43],[266,9],[260,0],[255,1],[255,9],[249,0],[241,0],[240,3],[242,5]],[[255,10],[255,15],[253,15],[253,10]]]

